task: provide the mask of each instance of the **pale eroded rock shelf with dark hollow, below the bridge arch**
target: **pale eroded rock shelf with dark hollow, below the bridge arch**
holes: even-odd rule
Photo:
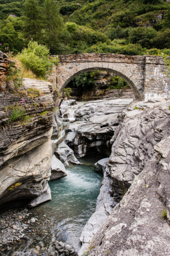
[[[110,156],[110,140],[120,122],[118,115],[131,101],[132,99],[96,100],[74,106],[68,106],[69,101],[63,101],[60,106],[61,114],[65,113],[66,105],[67,112],[74,112],[76,122],[65,129],[66,136],[57,148],[57,155],[63,155],[63,146],[67,144],[74,150],[76,157],[83,157],[89,153]],[[64,162],[62,159],[63,157],[60,160]]]

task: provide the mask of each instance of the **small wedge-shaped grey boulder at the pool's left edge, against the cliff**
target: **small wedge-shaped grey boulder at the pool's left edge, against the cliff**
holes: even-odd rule
[[[52,156],[51,159],[51,177],[50,179],[60,179],[64,176],[67,176],[64,164],[61,163],[59,159],[55,155]]]

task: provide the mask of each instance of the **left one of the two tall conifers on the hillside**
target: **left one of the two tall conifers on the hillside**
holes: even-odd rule
[[[40,42],[42,19],[41,9],[38,4],[38,0],[26,0],[24,3],[25,14],[25,37],[28,40]]]

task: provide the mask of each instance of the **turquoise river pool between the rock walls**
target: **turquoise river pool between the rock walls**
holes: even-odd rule
[[[53,216],[52,233],[63,242],[72,243],[75,249],[84,225],[95,212],[102,182],[102,175],[94,169],[98,160],[86,159],[81,165],[69,165],[67,176],[49,182],[52,201],[39,208],[48,209]]]

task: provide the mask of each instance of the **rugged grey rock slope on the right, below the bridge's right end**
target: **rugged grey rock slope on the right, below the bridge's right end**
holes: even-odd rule
[[[115,200],[123,198],[87,255],[170,254],[169,105],[126,111],[117,127],[106,171]]]

